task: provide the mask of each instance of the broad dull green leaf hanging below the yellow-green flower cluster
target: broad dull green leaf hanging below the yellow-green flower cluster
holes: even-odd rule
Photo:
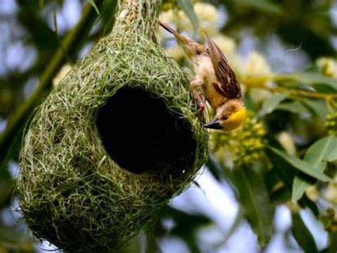
[[[272,236],[273,207],[264,185],[262,170],[256,166],[232,170],[231,182],[259,244],[264,247]]]

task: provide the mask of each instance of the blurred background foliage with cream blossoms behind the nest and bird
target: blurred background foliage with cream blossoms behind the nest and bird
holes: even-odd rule
[[[82,17],[76,18],[77,26],[65,17],[69,16],[65,8],[70,1],[82,10],[78,10]],[[88,46],[112,29],[116,2],[0,0],[4,31],[0,43],[0,252],[37,251],[28,229],[8,215],[11,207],[16,208],[15,171],[23,126],[53,88],[53,78],[61,67],[66,63],[71,66]],[[283,206],[292,219],[291,228],[282,234],[284,247],[336,252],[336,9],[332,0],[163,3],[160,19],[200,37],[201,42],[198,35],[204,32],[218,43],[245,89],[245,104],[251,111],[241,130],[211,133],[208,170],[219,185],[232,187],[241,209],[228,234],[223,235],[224,243],[245,220],[257,234],[261,249],[266,249],[276,236],[274,212]],[[191,67],[172,38],[160,33],[168,56]],[[296,48],[287,52],[294,56],[277,54],[275,46],[270,46],[275,38],[284,51]],[[254,41],[250,51],[255,51],[247,55],[248,40]],[[279,65],[269,63],[273,57]],[[281,66],[281,71],[273,65]],[[293,68],[291,73],[282,73],[289,69],[284,66]],[[14,129],[11,135],[7,135],[9,128]],[[326,248],[316,244],[318,239],[311,233],[303,210],[310,210],[313,219],[326,229]],[[171,226],[167,226],[168,220]],[[125,252],[160,252],[166,237],[180,238],[191,252],[202,252],[198,231],[214,224],[203,213],[166,207],[154,227],[134,239]],[[296,247],[291,244],[293,239]]]

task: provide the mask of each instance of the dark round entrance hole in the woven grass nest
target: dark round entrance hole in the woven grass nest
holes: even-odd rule
[[[196,140],[186,122],[161,98],[141,88],[122,88],[100,108],[97,128],[109,156],[134,173],[193,167]]]

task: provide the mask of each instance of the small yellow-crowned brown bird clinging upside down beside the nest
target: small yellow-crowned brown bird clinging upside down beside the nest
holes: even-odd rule
[[[193,61],[194,78],[190,82],[190,87],[198,103],[199,120],[203,121],[205,101],[215,110],[213,120],[203,126],[225,132],[239,128],[246,118],[247,110],[243,103],[240,83],[218,45],[205,36],[207,45],[203,46],[192,38],[178,33],[163,21],[158,22],[176,37],[183,51]],[[198,93],[198,88],[203,91],[204,100]]]

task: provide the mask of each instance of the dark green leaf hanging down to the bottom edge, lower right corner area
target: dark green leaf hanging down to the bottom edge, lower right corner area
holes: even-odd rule
[[[317,249],[314,237],[312,236],[309,229],[304,224],[299,213],[293,213],[292,217],[292,233],[298,242],[299,246],[304,250],[304,252],[319,252]]]

